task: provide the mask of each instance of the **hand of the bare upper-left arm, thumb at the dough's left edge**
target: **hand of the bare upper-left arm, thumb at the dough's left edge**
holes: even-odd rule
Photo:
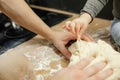
[[[76,36],[68,31],[66,32],[58,32],[54,31],[54,36],[52,39],[52,43],[55,45],[57,49],[67,58],[71,57],[70,51],[66,48],[66,44],[70,40],[75,40]]]

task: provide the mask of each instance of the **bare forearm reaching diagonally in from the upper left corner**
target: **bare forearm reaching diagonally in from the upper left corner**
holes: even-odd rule
[[[26,29],[51,40],[51,29],[30,9],[24,0],[0,0],[3,13]]]

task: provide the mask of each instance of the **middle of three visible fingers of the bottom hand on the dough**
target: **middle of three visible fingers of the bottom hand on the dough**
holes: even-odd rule
[[[100,70],[102,70],[105,66],[106,66],[105,62],[100,62],[93,64],[92,66],[86,68],[84,71],[86,72],[86,75],[90,77],[99,72]]]

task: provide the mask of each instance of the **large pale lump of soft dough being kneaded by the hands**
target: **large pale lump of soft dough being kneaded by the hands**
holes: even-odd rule
[[[120,53],[105,41],[98,40],[97,43],[93,43],[80,40],[73,43],[69,50],[72,53],[69,65],[73,65],[82,58],[93,56],[96,58],[90,65],[100,61],[107,61],[108,64],[103,70],[113,69],[113,74],[106,80],[120,80]]]

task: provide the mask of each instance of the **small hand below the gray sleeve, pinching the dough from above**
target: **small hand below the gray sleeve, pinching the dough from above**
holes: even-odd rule
[[[80,35],[81,37],[90,21],[91,16],[88,13],[84,13],[79,18],[76,18],[72,21],[67,21],[65,28],[73,34]]]

